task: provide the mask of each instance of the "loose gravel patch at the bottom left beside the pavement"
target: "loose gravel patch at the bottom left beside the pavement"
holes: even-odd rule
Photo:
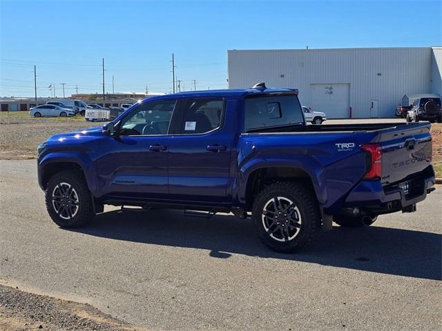
[[[129,331],[128,323],[84,303],[23,292],[0,285],[0,330]]]

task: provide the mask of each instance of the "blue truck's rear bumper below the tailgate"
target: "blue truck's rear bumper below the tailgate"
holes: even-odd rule
[[[412,191],[405,194],[398,185],[383,187],[381,181],[361,181],[345,199],[343,207],[362,207],[377,214],[387,214],[404,210],[415,203],[425,200],[427,194],[436,183],[432,166],[424,170],[418,177],[404,179],[410,181]]]

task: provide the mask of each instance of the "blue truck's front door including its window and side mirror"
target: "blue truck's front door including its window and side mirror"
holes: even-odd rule
[[[99,188],[110,197],[162,199],[168,190],[169,123],[175,100],[133,108],[117,127],[117,137],[99,146]]]

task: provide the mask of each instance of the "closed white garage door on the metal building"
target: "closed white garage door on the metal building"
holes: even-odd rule
[[[311,109],[328,119],[349,118],[350,84],[310,84]]]

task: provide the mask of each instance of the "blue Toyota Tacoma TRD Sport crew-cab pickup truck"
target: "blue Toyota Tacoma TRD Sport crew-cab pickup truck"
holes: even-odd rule
[[[414,212],[434,190],[430,123],[306,125],[294,90],[182,92],[136,103],[102,128],[38,147],[48,213],[62,228],[104,205],[252,218],[295,252],[320,228]]]

